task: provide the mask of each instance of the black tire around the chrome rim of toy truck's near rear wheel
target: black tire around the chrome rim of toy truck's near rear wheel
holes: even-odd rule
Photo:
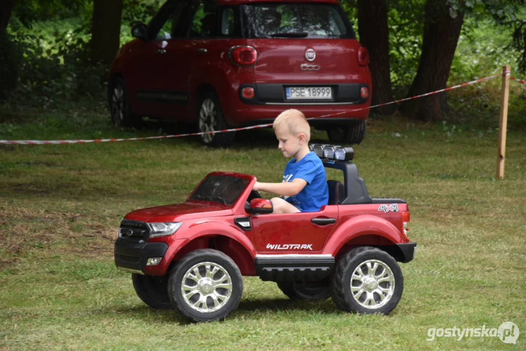
[[[379,308],[365,308],[358,304],[351,293],[351,276],[355,269],[366,262],[374,259],[387,265],[395,278],[395,289],[385,305]],[[403,292],[403,276],[400,266],[388,253],[378,248],[363,246],[353,248],[343,254],[336,263],[335,272],[332,276],[331,293],[332,300],[336,306],[347,312],[360,314],[389,314],[398,305]]]

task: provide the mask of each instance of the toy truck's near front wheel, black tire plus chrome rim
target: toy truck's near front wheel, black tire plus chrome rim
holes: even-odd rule
[[[214,249],[199,249],[180,259],[170,273],[171,304],[192,322],[225,319],[241,300],[243,279],[234,261]]]

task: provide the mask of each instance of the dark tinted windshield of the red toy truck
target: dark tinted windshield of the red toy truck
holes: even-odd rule
[[[210,175],[199,184],[188,200],[206,200],[232,205],[249,180],[226,175]]]

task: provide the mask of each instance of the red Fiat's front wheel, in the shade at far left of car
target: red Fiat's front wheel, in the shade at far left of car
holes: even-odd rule
[[[112,123],[118,127],[136,127],[140,116],[131,111],[128,89],[122,77],[116,77],[108,85],[109,111]]]

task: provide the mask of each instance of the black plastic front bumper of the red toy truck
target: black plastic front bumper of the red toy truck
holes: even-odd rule
[[[144,240],[117,238],[115,242],[115,265],[125,272],[144,274],[148,258],[164,257],[168,244],[145,243]]]

